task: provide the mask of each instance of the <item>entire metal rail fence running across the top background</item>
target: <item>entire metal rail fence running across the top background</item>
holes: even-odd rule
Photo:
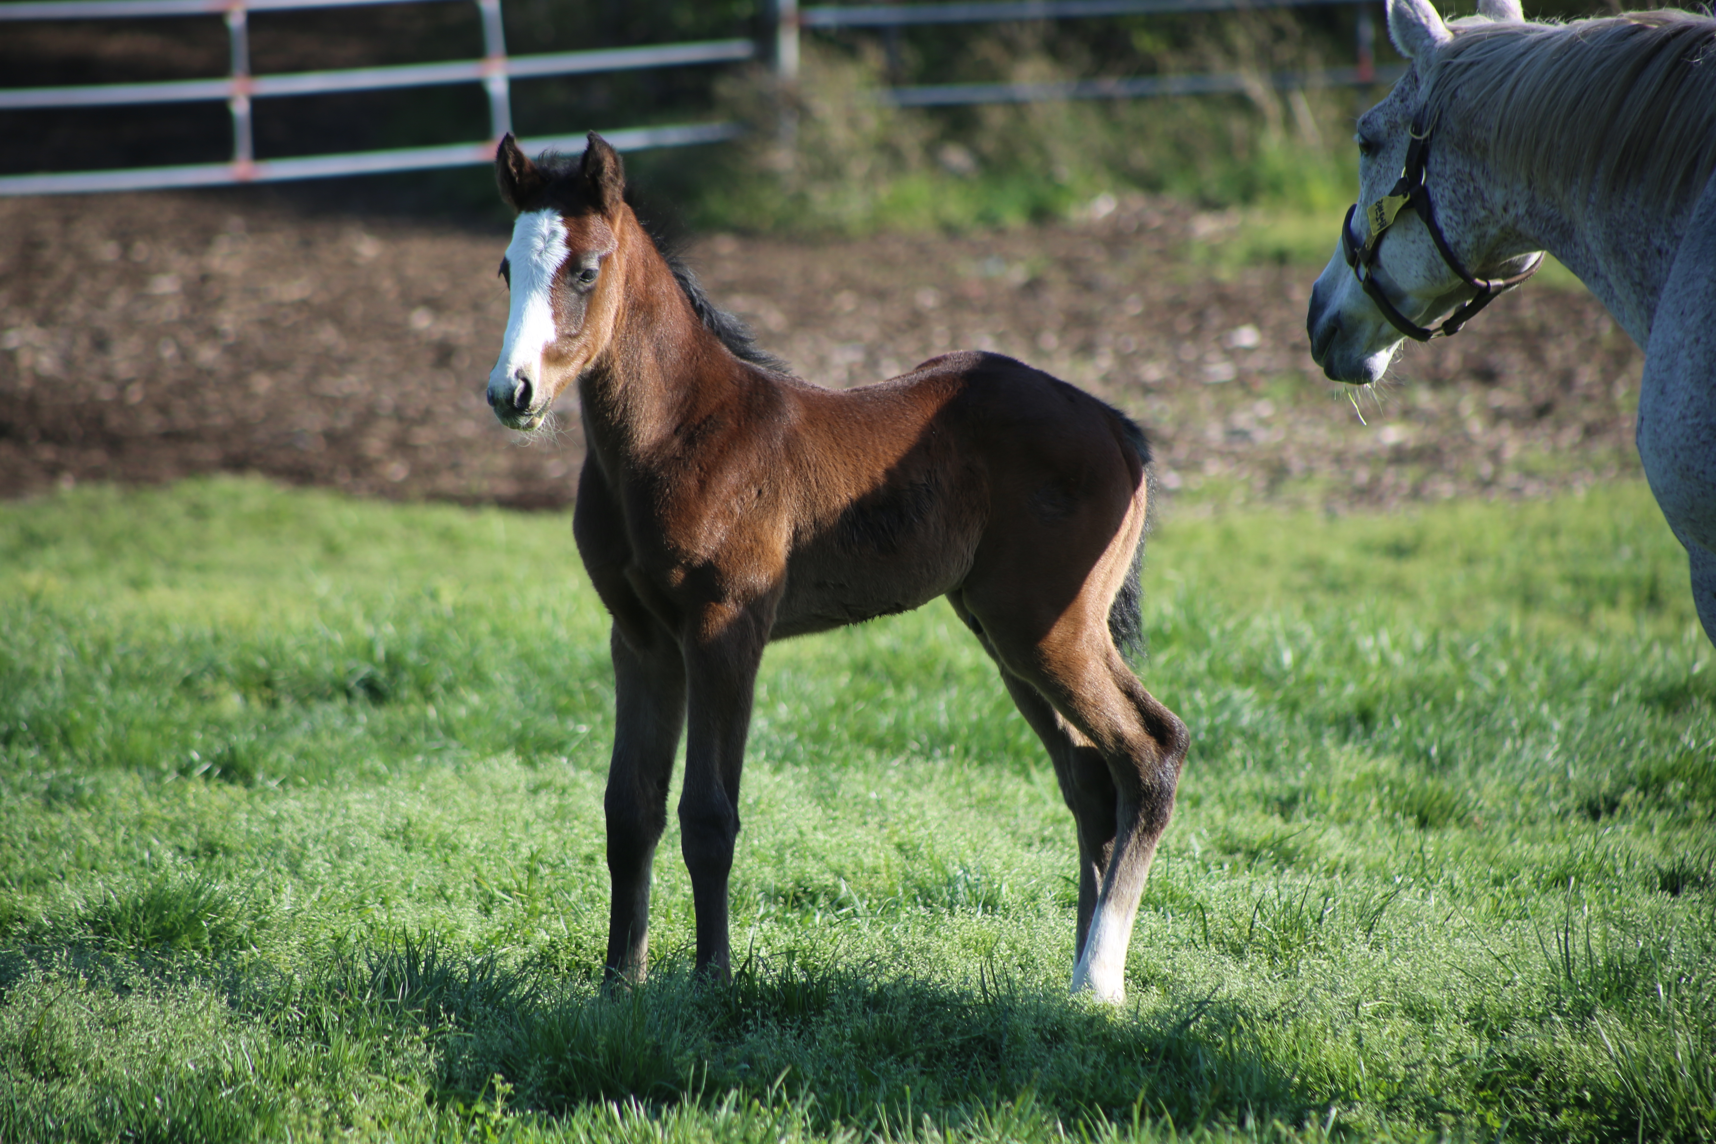
[[[149,103],[225,101],[232,111],[233,151],[227,163],[185,166],[151,166],[110,172],[67,172],[45,175],[0,175],[0,196],[70,194],[91,190],[153,190],[163,187],[213,187],[247,182],[281,182],[292,178],[328,178],[335,175],[371,175],[487,163],[499,137],[511,130],[511,81],[547,75],[580,75],[649,67],[686,67],[698,63],[733,63],[758,55],[752,39],[710,39],[700,43],[647,45],[601,51],[553,51],[508,55],[501,29],[501,0],[475,0],[482,21],[484,55],[480,60],[439,63],[402,63],[324,72],[276,75],[251,74],[251,12],[285,12],[300,9],[341,9],[381,3],[420,3],[424,0],[22,0],[0,2],[0,24],[19,21],[130,19],[220,15],[232,41],[228,75],[137,84],[86,84],[55,87],[0,87],[0,111],[38,108],[93,108]],[[803,31],[841,27],[904,27],[923,24],[968,24],[1002,21],[1090,19],[1114,15],[1167,15],[1187,12],[1222,12],[1261,7],[1299,7],[1321,3],[1357,3],[1371,0],[952,0],[940,3],[872,3],[815,5],[800,9],[798,0],[772,0],[772,57],[777,77],[798,77],[800,36]],[[1277,87],[1357,86],[1390,82],[1399,69],[1376,69],[1371,62],[1375,26],[1369,7],[1359,7],[1357,63],[1320,72],[1290,72],[1268,77]],[[252,129],[252,99],[283,96],[333,94],[348,91],[383,91],[438,84],[480,82],[489,99],[489,139],[439,148],[402,148],[390,151],[353,151],[285,160],[257,160]],[[1253,81],[1254,82],[1254,81]],[[879,99],[896,106],[958,106],[970,103],[1035,103],[1047,99],[1134,99],[1150,96],[1187,96],[1246,91],[1248,77],[1237,74],[1196,75],[1119,75],[1043,84],[927,84],[889,87]],[[633,127],[602,132],[616,148],[671,148],[717,142],[740,134],[738,123],[680,123],[669,127]],[[523,141],[530,148],[575,149],[577,135]]]

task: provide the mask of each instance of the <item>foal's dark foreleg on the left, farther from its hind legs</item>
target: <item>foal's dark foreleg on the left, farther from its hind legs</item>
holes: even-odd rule
[[[607,976],[642,981],[649,966],[649,882],[668,823],[668,784],[685,726],[685,664],[666,631],[642,648],[616,629],[614,756],[607,767]]]

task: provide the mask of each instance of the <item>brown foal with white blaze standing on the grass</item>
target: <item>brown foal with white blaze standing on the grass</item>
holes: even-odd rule
[[[1048,748],[1078,825],[1072,990],[1121,1000],[1187,741],[1115,645],[1139,623],[1143,432],[995,353],[949,353],[858,389],[812,386],[662,256],[599,135],[582,160],[537,161],[508,135],[496,177],[518,218],[489,405],[534,429],[578,384],[589,451],[573,535],[614,619],[609,974],[645,971],[681,729],[697,967],[724,978],[764,647],[946,595]]]

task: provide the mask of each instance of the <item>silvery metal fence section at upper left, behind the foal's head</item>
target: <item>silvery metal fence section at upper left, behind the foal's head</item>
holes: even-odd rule
[[[247,182],[283,182],[293,178],[328,178],[335,175],[374,175],[441,166],[468,166],[494,160],[494,146],[511,130],[511,81],[546,75],[580,75],[645,67],[685,67],[692,63],[729,63],[757,53],[750,39],[712,39],[702,43],[649,45],[604,51],[553,51],[541,55],[506,55],[501,29],[501,0],[475,0],[482,19],[480,60],[443,63],[403,63],[328,72],[281,75],[251,74],[251,12],[285,12],[297,9],[367,7],[379,3],[414,3],[420,0],[26,0],[0,3],[0,22],[129,19],[221,15],[232,39],[232,69],[220,79],[185,79],[148,84],[84,84],[55,87],[0,87],[0,111],[74,106],[122,106],[146,103],[225,101],[232,111],[233,153],[228,163],[185,166],[144,166],[112,172],[67,172],[50,175],[0,175],[3,194],[76,194],[91,190],[156,190],[163,187],[214,187]],[[383,91],[427,87],[436,84],[480,82],[489,98],[489,139],[441,148],[402,148],[391,151],[350,151],[287,160],[257,160],[251,129],[251,101],[280,96],[333,94],[345,91]],[[633,127],[602,132],[616,148],[673,148],[717,142],[738,135],[736,123],[681,123],[671,127]],[[534,137],[529,148],[582,148],[583,135]]]

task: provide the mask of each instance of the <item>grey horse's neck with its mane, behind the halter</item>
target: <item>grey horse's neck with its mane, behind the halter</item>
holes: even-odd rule
[[[1687,12],[1479,22],[1426,75],[1419,115],[1476,158],[1452,180],[1507,238],[1572,269],[1640,348],[1716,170],[1716,75],[1699,65],[1713,48],[1716,21]]]

